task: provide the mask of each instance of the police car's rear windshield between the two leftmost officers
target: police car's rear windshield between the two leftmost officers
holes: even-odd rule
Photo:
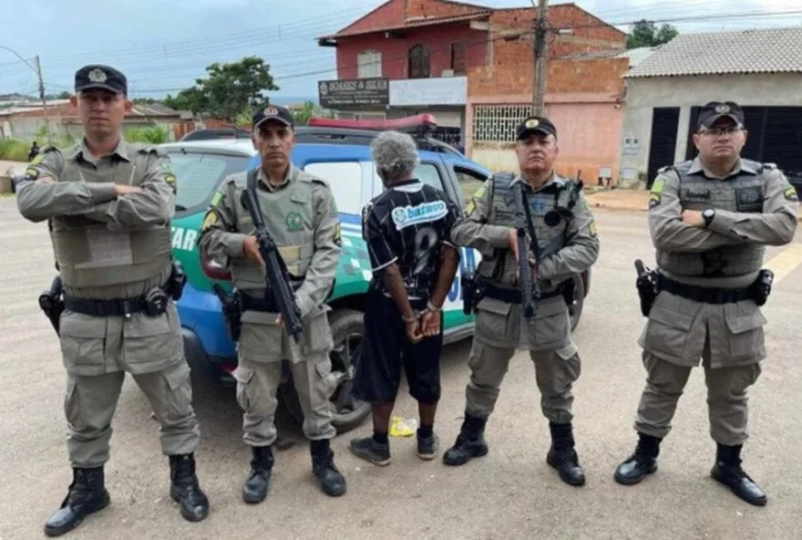
[[[245,156],[171,151],[170,161],[178,184],[176,205],[183,207],[178,212],[195,213],[205,210],[211,195],[223,179],[230,174],[245,171],[249,160]]]

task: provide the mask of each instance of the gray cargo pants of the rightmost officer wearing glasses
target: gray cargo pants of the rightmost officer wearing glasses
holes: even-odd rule
[[[766,318],[755,302],[712,305],[662,292],[639,340],[647,372],[634,424],[663,438],[691,370],[702,360],[710,436],[719,444],[743,444],[748,434],[747,389],[766,358]]]

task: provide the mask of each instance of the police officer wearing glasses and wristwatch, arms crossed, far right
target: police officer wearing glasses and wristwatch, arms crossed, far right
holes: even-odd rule
[[[759,308],[770,289],[771,275],[761,271],[766,245],[792,241],[798,202],[774,164],[740,157],[745,141],[743,110],[708,103],[694,134],[698,157],[661,169],[653,182],[656,297],[639,340],[648,379],[634,425],[639,441],[615,479],[638,483],[657,470],[660,441],[701,358],[717,445],[711,475],[746,502],[764,505],[766,494],[741,468],[746,390],[766,358]]]

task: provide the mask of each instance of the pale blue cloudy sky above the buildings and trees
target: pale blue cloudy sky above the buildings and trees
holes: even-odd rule
[[[493,7],[530,0],[472,0]],[[551,5],[559,4],[557,0]],[[5,10],[0,47],[39,55],[47,93],[71,90],[77,68],[105,63],[129,78],[133,96],[163,97],[190,87],[211,62],[264,57],[281,89],[275,96],[316,97],[316,81],[336,78],[334,49],[315,36],[334,33],[380,0],[26,0]],[[799,0],[577,0],[603,20],[673,19],[681,32],[802,25]],[[749,12],[795,15],[726,18]],[[705,17],[690,22],[689,17]],[[620,26],[626,31],[626,26]],[[0,48],[0,93],[36,95],[36,73]]]

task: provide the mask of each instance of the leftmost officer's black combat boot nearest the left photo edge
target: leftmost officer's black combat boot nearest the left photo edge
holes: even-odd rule
[[[89,514],[103,510],[111,502],[104,483],[103,467],[73,469],[72,483],[61,507],[45,524],[47,536],[59,536],[76,528]]]

